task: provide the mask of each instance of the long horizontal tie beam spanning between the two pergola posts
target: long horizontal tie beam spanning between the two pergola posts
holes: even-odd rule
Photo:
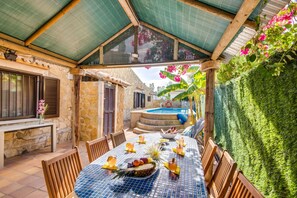
[[[144,67],[144,66],[151,66],[151,67],[160,67],[160,66],[167,66],[167,65],[183,65],[183,64],[200,64],[209,59],[199,59],[199,60],[189,60],[189,61],[171,61],[171,62],[163,62],[163,63],[133,63],[133,64],[118,64],[118,65],[80,65],[79,68],[81,69],[111,69],[111,68],[133,68],[133,67]]]

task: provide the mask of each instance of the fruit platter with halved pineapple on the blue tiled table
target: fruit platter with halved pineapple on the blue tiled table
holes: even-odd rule
[[[137,180],[144,180],[157,172],[156,162],[152,158],[135,159],[128,163],[126,167],[117,170],[114,178],[128,177]]]

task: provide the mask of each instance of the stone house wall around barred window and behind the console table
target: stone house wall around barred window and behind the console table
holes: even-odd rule
[[[50,66],[49,70],[39,69],[24,64],[0,60],[0,67],[14,71],[36,73],[60,79],[60,116],[46,119],[56,124],[57,143],[71,140],[72,131],[72,102],[74,100],[73,81],[68,79],[69,68],[57,65]],[[50,146],[50,128],[22,130],[5,133],[5,157],[13,157]]]

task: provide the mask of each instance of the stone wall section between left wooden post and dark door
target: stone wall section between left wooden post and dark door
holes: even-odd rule
[[[98,81],[81,82],[80,90],[80,139],[93,140],[99,138]]]

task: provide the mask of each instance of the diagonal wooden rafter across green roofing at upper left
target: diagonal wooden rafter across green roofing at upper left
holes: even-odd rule
[[[62,10],[60,10],[55,16],[43,24],[39,29],[37,29],[29,38],[25,40],[25,45],[30,45],[35,39],[37,39],[42,33],[54,25],[60,18],[62,18],[67,12],[69,12],[74,6],[76,6],[80,0],[72,0],[67,4]]]

